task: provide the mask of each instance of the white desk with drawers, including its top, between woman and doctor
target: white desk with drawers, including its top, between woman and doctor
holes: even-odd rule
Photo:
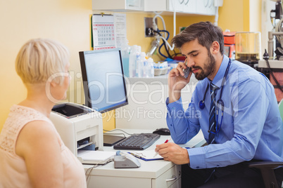
[[[127,133],[152,133],[153,130],[134,130],[124,129]],[[162,144],[170,136],[163,136],[158,139],[148,149],[155,149],[156,145]],[[186,145],[182,147],[198,147],[205,143],[200,132]],[[118,151],[113,147],[103,147],[104,151]],[[129,150],[122,150],[130,152]],[[165,187],[181,187],[181,166],[175,165],[170,161],[143,161],[139,168],[114,168],[114,162],[108,163],[105,166],[93,168],[87,180],[88,187],[122,187],[122,188],[165,188]],[[91,165],[84,165],[84,170],[87,171]]]

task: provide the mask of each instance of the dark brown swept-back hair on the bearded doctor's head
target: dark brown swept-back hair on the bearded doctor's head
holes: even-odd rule
[[[173,37],[171,44],[175,44],[176,48],[181,48],[184,43],[194,41],[198,39],[199,44],[204,46],[210,51],[210,46],[213,41],[218,41],[220,45],[220,53],[224,53],[224,36],[222,29],[213,25],[211,22],[198,22],[189,27],[186,27],[184,31]]]

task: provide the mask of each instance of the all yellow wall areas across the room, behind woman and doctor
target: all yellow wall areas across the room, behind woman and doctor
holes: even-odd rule
[[[0,1],[0,130],[8,115],[8,109],[23,100],[26,95],[23,83],[15,73],[14,61],[20,47],[28,39],[51,38],[68,47],[70,72],[73,76],[68,98],[70,102],[84,102],[78,52],[91,48],[90,15],[90,0]],[[152,38],[144,37],[144,17],[153,15],[127,13],[127,39],[130,45],[137,44],[142,46],[142,51],[148,51]],[[163,15],[163,18],[172,39],[172,14]],[[214,22],[214,16],[177,15],[177,33],[179,27],[199,21]],[[219,8],[218,20],[218,25],[223,30],[249,31],[249,22],[249,1],[224,0],[223,6]],[[158,26],[162,28],[160,19]],[[157,61],[161,60],[161,57],[155,55],[153,59]],[[105,129],[114,128],[115,119],[111,114],[113,113],[109,112],[103,119]]]

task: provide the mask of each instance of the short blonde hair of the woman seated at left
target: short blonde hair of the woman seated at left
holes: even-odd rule
[[[20,48],[15,60],[15,70],[23,83],[44,83],[50,76],[65,72],[69,52],[61,43],[51,39],[32,39]],[[63,76],[56,76],[58,83]]]

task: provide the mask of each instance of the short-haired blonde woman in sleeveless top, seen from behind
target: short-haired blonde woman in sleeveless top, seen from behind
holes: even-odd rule
[[[49,39],[20,49],[15,69],[27,98],[11,107],[0,134],[0,187],[86,187],[82,164],[49,120],[54,104],[66,98],[68,59],[67,48]]]

